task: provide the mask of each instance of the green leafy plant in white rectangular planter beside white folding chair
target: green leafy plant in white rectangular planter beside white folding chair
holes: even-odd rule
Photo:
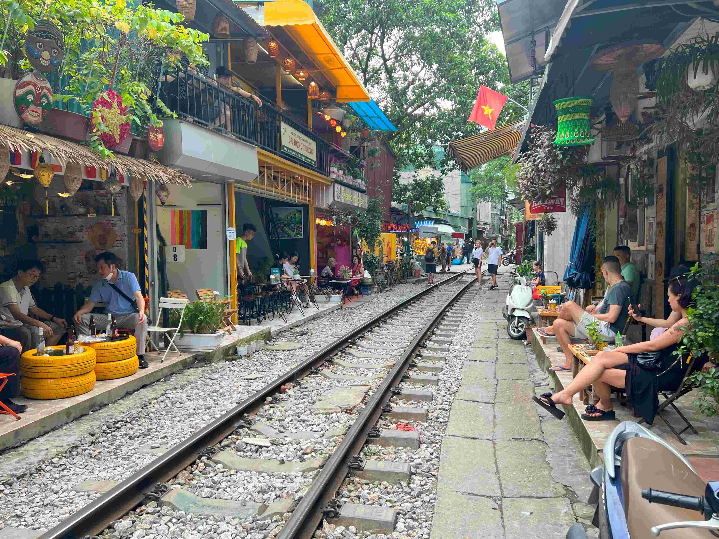
[[[226,298],[224,298],[226,299]],[[175,340],[178,348],[190,350],[214,350],[222,344],[222,315],[226,305],[215,300],[189,303],[183,315],[183,325]],[[179,313],[170,313],[170,324],[176,325]]]

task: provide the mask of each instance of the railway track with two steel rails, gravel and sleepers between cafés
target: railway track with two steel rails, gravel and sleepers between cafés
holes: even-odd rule
[[[195,494],[188,493],[186,489],[171,488],[168,484],[170,480],[178,482],[180,472],[186,471],[186,476],[190,471],[197,474],[200,464],[202,470],[207,464],[212,464],[213,469],[220,471],[237,469],[260,472],[260,475],[287,471],[313,476],[311,486],[298,497],[298,501],[290,498],[270,504],[243,502],[242,507],[239,503],[233,506],[234,513],[228,510],[229,506],[218,510],[220,513],[224,511],[225,515],[232,513],[239,519],[236,519],[237,522],[242,521],[242,512],[247,513],[249,522],[272,519],[273,528],[280,529],[275,530],[271,537],[311,538],[324,519],[352,522],[354,529],[359,531],[391,533],[396,512],[393,515],[393,510],[369,505],[343,506],[335,499],[335,492],[350,471],[373,478],[387,477],[388,480],[402,474],[409,478],[408,464],[378,465],[377,461],[363,460],[359,453],[365,443],[419,446],[420,434],[417,430],[380,430],[375,423],[383,414],[417,423],[422,423],[421,418],[424,417],[426,421],[426,409],[421,407],[421,401],[431,400],[431,391],[413,390],[412,387],[431,388],[432,384],[436,384],[436,377],[431,373],[441,370],[444,359],[432,352],[449,351],[449,346],[444,343],[451,341],[449,337],[459,324],[459,320],[452,317],[452,312],[447,311],[459,303],[459,298],[475,282],[473,272],[459,273],[418,292],[336,339],[70,515],[44,533],[41,539],[79,539],[101,533],[109,535],[113,531],[119,538],[130,537],[123,535],[122,525],[117,522],[138,506],[149,514],[159,512],[159,505],[186,512],[193,510],[185,507],[194,507],[196,514],[212,515],[214,510],[209,506],[200,507],[202,500]],[[462,303],[462,309],[466,310],[465,305],[467,302]],[[440,334],[437,329],[444,329],[446,334]],[[429,360],[429,363],[415,361],[419,359],[420,351],[422,359]],[[319,397],[313,396],[318,394]],[[341,402],[336,402],[335,397],[339,397]],[[390,404],[393,397],[401,402],[411,401],[414,404],[416,401],[419,406],[393,407]],[[320,436],[319,433],[301,430],[303,423],[290,425],[285,422],[284,427],[278,423],[278,407],[285,405],[280,416],[291,418],[293,408],[307,402],[313,402],[314,413],[334,414],[332,417],[337,418],[338,428]],[[269,420],[265,423],[260,420],[262,418]],[[290,427],[289,430],[287,427]],[[228,451],[229,439],[237,440],[248,433],[258,433],[260,437],[242,438],[243,447],[248,447],[248,444],[249,448],[271,446],[273,440],[279,438],[313,441],[324,444],[326,448],[334,445],[334,450],[323,459],[309,459],[311,455],[305,459],[288,450],[287,454],[293,456],[288,462],[284,459],[246,458]],[[247,456],[252,456],[252,452]],[[400,475],[396,473],[398,467],[401,468]],[[211,473],[214,474],[214,471]],[[180,481],[182,484],[184,482]],[[162,509],[165,510],[165,507]],[[165,510],[165,514],[167,512]],[[239,537],[246,535],[244,533]],[[267,534],[258,536],[266,537]],[[222,537],[225,539],[224,535]]]

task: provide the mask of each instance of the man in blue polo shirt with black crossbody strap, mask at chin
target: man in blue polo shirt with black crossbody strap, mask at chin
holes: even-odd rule
[[[149,365],[145,360],[145,338],[147,338],[147,318],[145,317],[145,298],[139,290],[137,277],[134,273],[117,269],[117,257],[111,252],[100,253],[95,257],[97,272],[101,277],[93,286],[90,298],[85,305],[78,309],[73,321],[82,335],[90,332],[90,315],[96,303],[103,302],[107,314],[96,314],[95,323],[99,329],[104,329],[109,323],[109,315],[114,315],[118,328],[134,330],[137,339],[137,357],[139,368],[147,369]],[[122,297],[117,290],[134,300],[133,305]]]

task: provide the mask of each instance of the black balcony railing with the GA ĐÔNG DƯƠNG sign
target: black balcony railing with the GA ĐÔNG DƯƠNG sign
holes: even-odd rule
[[[180,70],[166,77],[160,86],[160,99],[180,117],[232,134],[329,176],[329,142],[270,103],[263,101],[261,107],[257,106],[255,101],[193,70]],[[285,141],[290,134],[292,139],[300,139],[295,149],[283,144],[283,127]]]

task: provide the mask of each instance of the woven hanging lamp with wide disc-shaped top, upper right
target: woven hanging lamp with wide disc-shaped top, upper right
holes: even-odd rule
[[[597,71],[614,71],[610,101],[620,121],[627,121],[636,109],[639,95],[639,75],[636,69],[664,54],[664,45],[655,41],[628,41],[600,50],[591,58]]]

